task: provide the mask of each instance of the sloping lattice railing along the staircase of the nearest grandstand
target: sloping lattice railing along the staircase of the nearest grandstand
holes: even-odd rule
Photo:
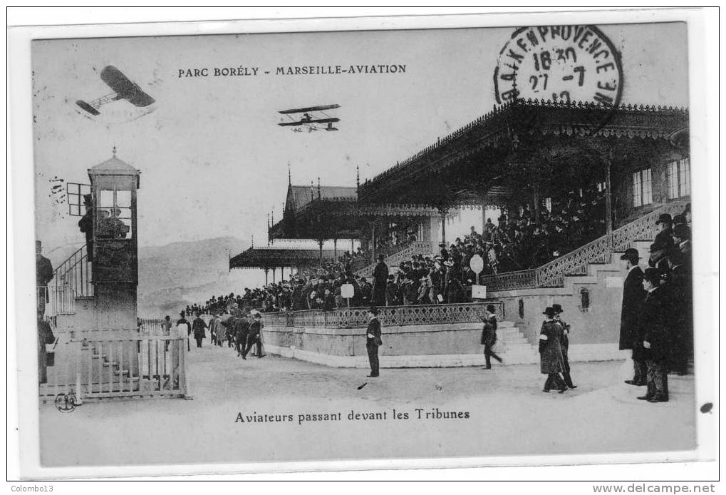
[[[597,238],[538,268],[486,275],[481,278],[481,284],[487,291],[561,287],[567,275],[585,275],[587,265],[609,262],[613,252],[625,251],[636,241],[652,241],[656,237],[658,217],[664,213],[680,214],[685,204],[685,201],[673,201],[613,230],[610,238],[607,235]]]

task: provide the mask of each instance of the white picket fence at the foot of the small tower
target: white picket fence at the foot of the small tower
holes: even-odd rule
[[[59,342],[41,397],[93,398],[187,394],[187,337],[134,330],[84,332]]]

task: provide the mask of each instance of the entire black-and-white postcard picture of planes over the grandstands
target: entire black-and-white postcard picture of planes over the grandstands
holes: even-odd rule
[[[696,459],[690,26],[513,21],[33,40],[40,467]]]

